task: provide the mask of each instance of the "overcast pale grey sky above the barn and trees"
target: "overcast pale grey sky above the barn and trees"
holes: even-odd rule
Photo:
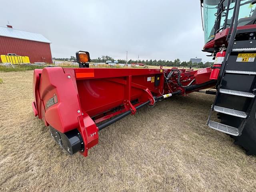
[[[0,26],[40,33],[52,57],[68,58],[78,50],[91,58],[141,60],[198,57],[204,36],[199,0],[1,0]]]

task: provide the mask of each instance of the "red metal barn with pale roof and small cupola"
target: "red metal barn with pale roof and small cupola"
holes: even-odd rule
[[[50,43],[41,34],[13,29],[10,25],[0,26],[0,55],[16,54],[28,56],[30,63],[51,63]]]

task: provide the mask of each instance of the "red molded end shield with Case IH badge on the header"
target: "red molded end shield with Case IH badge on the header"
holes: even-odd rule
[[[44,68],[39,85],[46,109],[44,120],[62,133],[78,127],[77,118],[82,115],[72,72],[65,74],[61,67]]]

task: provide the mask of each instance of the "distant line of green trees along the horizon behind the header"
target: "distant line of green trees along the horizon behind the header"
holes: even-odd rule
[[[76,58],[74,56],[70,56],[70,58],[54,58],[56,60],[75,60]],[[110,57],[110,56],[101,56],[98,57],[96,59],[92,59],[91,58],[91,62],[95,62],[95,63],[105,63],[106,61],[111,60],[112,62],[115,60],[114,58]],[[123,59],[118,59],[117,60],[118,63],[126,63],[126,60]],[[183,61],[181,62],[180,59],[175,59],[174,61],[169,61],[169,60],[128,60],[128,64],[131,63],[143,63],[145,65],[152,65],[152,66],[170,66],[170,67],[192,67],[192,68],[205,68],[205,67],[210,67],[213,65],[213,62],[200,62],[200,63],[192,63],[191,61],[186,62]]]

